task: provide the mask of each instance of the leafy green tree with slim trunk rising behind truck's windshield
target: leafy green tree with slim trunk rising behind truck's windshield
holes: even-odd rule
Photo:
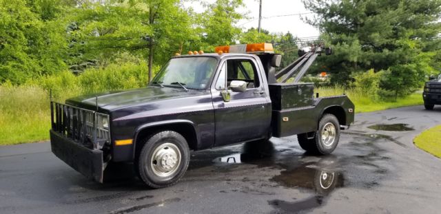
[[[147,58],[149,81],[154,63],[164,63],[196,36],[178,0],[85,2],[70,19],[73,65],[130,52]]]

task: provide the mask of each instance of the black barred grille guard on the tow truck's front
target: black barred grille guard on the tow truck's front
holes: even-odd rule
[[[110,142],[110,127],[100,127],[99,118],[107,118],[110,122],[107,114],[50,102],[52,130],[90,149],[102,149],[105,142]]]

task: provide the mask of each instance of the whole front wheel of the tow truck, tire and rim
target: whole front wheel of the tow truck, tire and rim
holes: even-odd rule
[[[157,189],[176,184],[187,171],[188,164],[187,140],[175,131],[161,131],[145,139],[135,167],[141,180]]]

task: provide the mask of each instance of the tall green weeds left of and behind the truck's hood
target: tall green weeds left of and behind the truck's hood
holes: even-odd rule
[[[79,76],[60,72],[24,85],[0,85],[0,145],[48,140],[50,91],[54,100],[63,102],[83,94],[143,87],[146,71],[146,63],[126,61],[88,69]]]

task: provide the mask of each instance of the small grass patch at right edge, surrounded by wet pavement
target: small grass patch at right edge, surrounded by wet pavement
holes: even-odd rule
[[[433,156],[441,158],[441,125],[428,129],[420,133],[413,142],[415,145]]]

